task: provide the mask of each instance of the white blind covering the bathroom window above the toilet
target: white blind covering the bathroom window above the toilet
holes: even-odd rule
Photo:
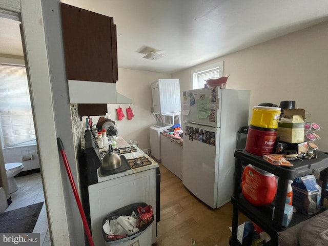
[[[0,125],[4,147],[25,145],[35,140],[24,66],[0,64]]]

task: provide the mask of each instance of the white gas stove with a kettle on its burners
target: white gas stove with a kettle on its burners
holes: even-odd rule
[[[97,172],[97,182],[94,180],[95,182],[88,186],[90,222],[94,243],[97,246],[106,245],[101,227],[103,219],[109,213],[137,202],[146,202],[153,207],[154,222],[151,243],[155,243],[157,222],[160,219],[159,166],[137,146],[116,148],[114,152],[122,156],[122,166],[126,166],[124,170],[116,170],[114,173],[104,175],[101,174],[101,167],[99,167],[94,170]],[[100,150],[100,160],[107,153],[108,150],[105,148]],[[137,238],[131,240],[128,245],[137,241]]]

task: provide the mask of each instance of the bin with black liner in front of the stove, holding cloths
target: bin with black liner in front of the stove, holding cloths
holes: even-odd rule
[[[139,208],[139,210],[138,210]],[[120,245],[120,246],[129,246],[135,242],[139,242],[139,245],[151,245],[152,244],[152,223],[154,221],[154,215],[152,215],[151,217],[147,218],[147,222],[145,221],[141,221],[140,224],[144,224],[143,227],[141,227],[139,229],[138,232],[133,233],[131,235],[126,235],[124,237],[120,237],[120,236],[115,236],[115,235],[109,235],[104,231],[104,224],[106,223],[107,220],[111,221],[111,220],[115,220],[120,216],[131,216],[132,212],[134,212],[137,217],[140,220],[140,208],[142,210],[142,208],[147,208],[147,209],[151,209],[151,211],[147,211],[147,212],[151,212],[151,214],[153,213],[151,206],[148,206],[147,203],[145,202],[139,202],[139,203],[132,203],[126,207],[117,209],[115,211],[113,211],[112,213],[110,213],[109,215],[107,215],[104,219],[103,219],[103,223],[101,226],[101,230],[103,232],[103,237],[106,241],[106,245]]]

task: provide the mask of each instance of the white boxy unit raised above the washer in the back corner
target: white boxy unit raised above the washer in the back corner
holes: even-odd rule
[[[177,115],[181,112],[180,81],[178,78],[158,79],[152,83],[155,114]]]

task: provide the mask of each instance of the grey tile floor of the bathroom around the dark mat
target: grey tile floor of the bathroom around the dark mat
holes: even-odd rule
[[[5,212],[45,201],[40,173],[16,177],[18,190],[11,194],[12,203]],[[40,246],[51,246],[46,204],[40,211],[33,233],[40,233]]]

